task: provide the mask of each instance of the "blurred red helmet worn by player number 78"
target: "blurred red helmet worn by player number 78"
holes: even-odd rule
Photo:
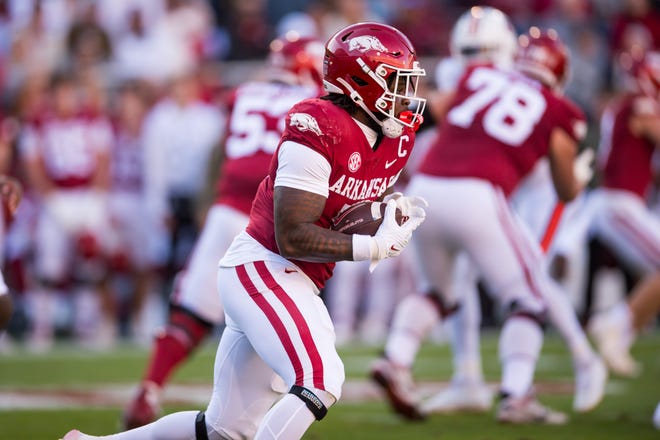
[[[568,78],[568,49],[557,31],[531,27],[518,39],[516,70],[541,81],[552,89],[561,89]]]

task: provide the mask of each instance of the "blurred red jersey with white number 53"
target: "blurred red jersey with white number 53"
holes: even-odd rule
[[[234,91],[216,203],[250,212],[282,135],[286,112],[317,95],[316,89],[273,82],[247,83]]]

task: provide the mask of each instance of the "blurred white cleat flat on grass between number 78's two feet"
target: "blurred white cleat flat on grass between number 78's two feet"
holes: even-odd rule
[[[487,412],[493,392],[483,382],[452,381],[447,388],[420,405],[423,414]]]

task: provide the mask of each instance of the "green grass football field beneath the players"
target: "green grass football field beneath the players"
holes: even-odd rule
[[[378,348],[349,347],[341,350],[349,381],[366,377]],[[215,344],[209,343],[177,372],[173,385],[196,386],[210,383]],[[496,335],[483,338],[485,373],[497,382]],[[91,434],[115,432],[123,399],[95,400],[90,390],[131,389],[140,378],[147,351],[120,347],[110,353],[84,352],[72,346],[58,347],[48,355],[32,355],[21,350],[0,354],[0,439],[55,440],[71,428]],[[635,379],[612,377],[604,402],[588,414],[571,414],[561,427],[504,426],[493,413],[434,416],[423,423],[405,422],[392,414],[380,399],[349,399],[333,407],[321,423],[315,423],[308,439],[444,439],[444,440],[558,440],[558,439],[660,439],[651,417],[660,401],[660,331],[643,335],[633,350],[644,365]],[[425,345],[415,366],[422,382],[449,379],[451,359],[446,346]],[[543,349],[537,375],[539,396],[544,403],[570,413],[572,366],[561,341],[550,335]],[[20,397],[46,393],[55,400],[52,407],[32,407]],[[99,392],[103,394],[103,392]],[[112,394],[112,393],[110,393]],[[128,394],[130,396],[130,394]],[[70,403],[73,399],[74,402]],[[77,399],[77,400],[76,400]],[[176,400],[170,402],[176,402]],[[17,405],[20,404],[20,407]],[[170,403],[165,411],[203,409],[198,403]]]

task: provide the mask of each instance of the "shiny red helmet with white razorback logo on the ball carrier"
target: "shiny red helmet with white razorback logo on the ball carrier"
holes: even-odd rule
[[[326,44],[323,61],[326,91],[349,96],[388,137],[399,136],[403,125],[414,127],[424,111],[426,100],[417,97],[417,85],[425,75],[410,40],[385,24],[347,26]],[[403,120],[395,114],[397,100],[410,103],[412,117]]]

